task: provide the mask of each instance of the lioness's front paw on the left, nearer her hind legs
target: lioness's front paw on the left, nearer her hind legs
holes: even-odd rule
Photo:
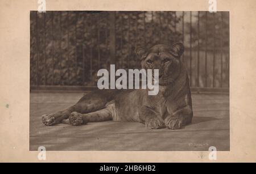
[[[158,116],[153,109],[146,106],[141,107],[139,111],[139,119],[146,125],[146,128],[161,129],[166,128],[164,120]]]

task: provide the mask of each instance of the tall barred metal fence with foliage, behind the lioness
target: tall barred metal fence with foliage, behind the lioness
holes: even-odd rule
[[[192,88],[228,91],[229,12],[205,11],[31,11],[30,86],[92,87],[110,63],[139,68],[135,46],[176,41]]]

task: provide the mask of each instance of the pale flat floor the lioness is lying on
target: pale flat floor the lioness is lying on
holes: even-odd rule
[[[144,128],[137,122],[94,122],[82,126],[45,126],[41,116],[72,104],[80,92],[30,94],[30,150],[54,151],[229,151],[229,96],[193,94],[192,124],[180,130]]]

